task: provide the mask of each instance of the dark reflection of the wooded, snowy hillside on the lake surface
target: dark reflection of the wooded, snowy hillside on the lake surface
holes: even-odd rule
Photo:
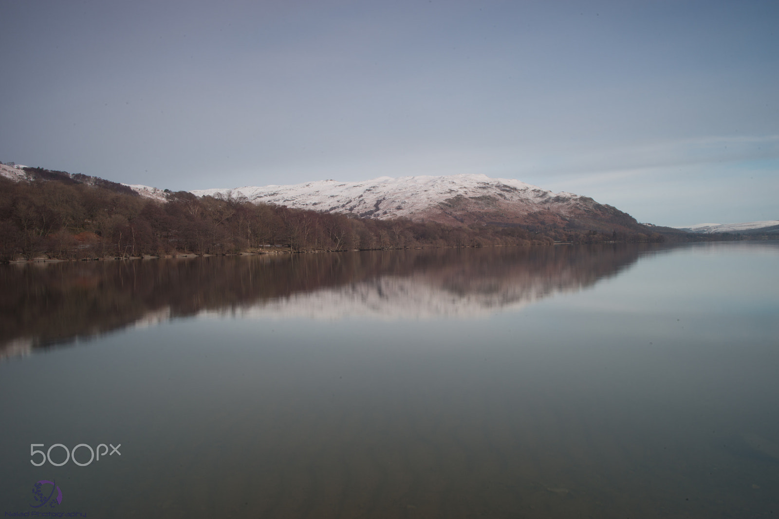
[[[207,313],[467,318],[578,291],[652,244],[211,256],[0,266],[0,358]]]

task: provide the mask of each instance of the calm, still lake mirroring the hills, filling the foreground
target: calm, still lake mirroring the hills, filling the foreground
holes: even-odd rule
[[[777,266],[779,242],[0,265],[0,511],[779,517]]]

